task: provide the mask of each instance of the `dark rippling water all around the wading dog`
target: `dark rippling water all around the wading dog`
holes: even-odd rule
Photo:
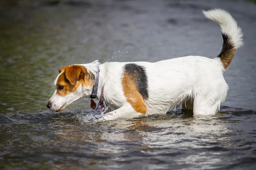
[[[256,5],[239,0],[3,2],[0,169],[256,168]],[[46,108],[64,65],[215,57],[222,46],[220,28],[201,10],[216,7],[236,18],[245,43],[224,74],[230,90],[215,116],[193,117],[176,109],[164,116],[95,122],[100,112],[90,109],[89,99],[59,114]]]

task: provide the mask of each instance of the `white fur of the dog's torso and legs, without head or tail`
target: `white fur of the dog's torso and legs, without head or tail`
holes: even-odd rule
[[[126,101],[122,91],[123,66],[131,62],[106,62],[99,66],[99,86],[104,84],[104,99],[112,109],[108,119],[130,117],[131,105]],[[219,59],[200,56],[187,56],[159,62],[132,62],[145,68],[148,76],[149,98],[145,100],[147,112],[166,114],[179,103],[193,99],[194,115],[212,115],[219,110],[227,96],[227,83],[223,77],[224,68]],[[98,89],[98,96],[100,88]],[[131,109],[127,109],[128,105]],[[125,111],[126,110],[126,111]],[[138,116],[141,113],[137,113]]]

